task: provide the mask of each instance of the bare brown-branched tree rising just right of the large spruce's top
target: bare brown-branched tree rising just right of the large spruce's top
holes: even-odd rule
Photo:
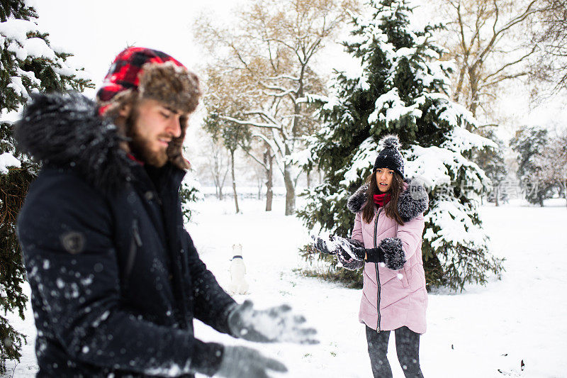
[[[530,73],[537,51],[527,27],[541,0],[437,0],[444,11],[448,59],[456,63],[453,99],[473,116],[490,113],[500,84]]]

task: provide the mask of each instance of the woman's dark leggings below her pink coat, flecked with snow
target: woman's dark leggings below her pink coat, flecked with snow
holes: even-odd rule
[[[403,374],[406,378],[423,378],[420,368],[420,334],[405,326],[394,330],[394,334],[395,351],[398,353]],[[389,338],[389,330],[376,332],[366,326],[366,341],[374,378],[392,377],[392,369],[386,357]]]

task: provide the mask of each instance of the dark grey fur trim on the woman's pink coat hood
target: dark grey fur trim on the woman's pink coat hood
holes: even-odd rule
[[[398,199],[398,213],[404,222],[410,221],[412,218],[420,215],[427,210],[429,206],[429,196],[425,187],[415,179],[405,180],[407,187],[400,194]],[[362,185],[347,201],[347,208],[352,213],[358,213],[366,204],[366,190],[368,185]]]

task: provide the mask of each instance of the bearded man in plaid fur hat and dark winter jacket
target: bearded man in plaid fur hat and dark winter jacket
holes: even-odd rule
[[[193,318],[258,342],[314,343],[288,306],[236,304],[184,230],[179,185],[201,89],[167,54],[128,48],[98,104],[35,95],[16,127],[43,162],[18,218],[32,289],[38,377],[267,377],[286,367],[203,343]]]

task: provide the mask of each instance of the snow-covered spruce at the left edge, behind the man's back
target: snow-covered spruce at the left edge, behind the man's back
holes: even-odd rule
[[[71,54],[50,47],[48,34],[34,20],[35,10],[23,0],[0,1],[0,374],[6,360],[19,360],[24,335],[6,321],[6,312],[23,318],[24,268],[15,222],[38,167],[15,148],[12,124],[4,118],[26,104],[36,91],[83,90],[92,87],[81,70],[67,65]]]

